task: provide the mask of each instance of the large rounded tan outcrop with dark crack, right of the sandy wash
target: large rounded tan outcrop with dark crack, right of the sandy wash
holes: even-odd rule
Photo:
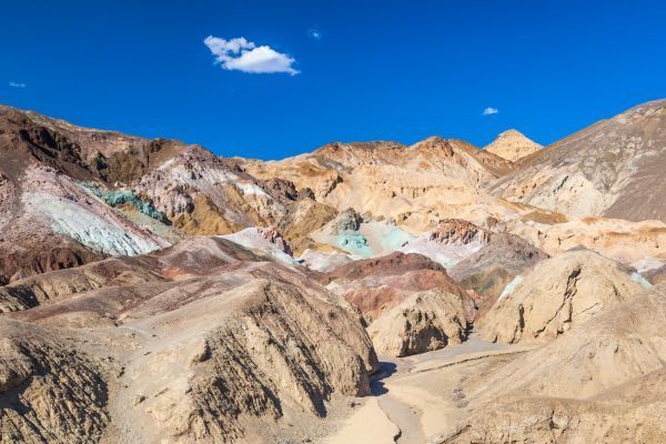
[[[591,251],[564,253],[514,278],[478,331],[493,342],[549,342],[642,290],[617,262]]]

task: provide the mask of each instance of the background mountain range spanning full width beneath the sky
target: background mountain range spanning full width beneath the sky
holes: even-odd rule
[[[0,280],[255,225],[301,253],[347,208],[412,234],[452,216],[664,222],[665,110],[646,103],[545,149],[512,130],[485,150],[430,138],[264,162],[2,107]]]

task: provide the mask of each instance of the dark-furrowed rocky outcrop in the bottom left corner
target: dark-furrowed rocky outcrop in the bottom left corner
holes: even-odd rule
[[[2,442],[99,442],[107,369],[58,331],[0,317]]]

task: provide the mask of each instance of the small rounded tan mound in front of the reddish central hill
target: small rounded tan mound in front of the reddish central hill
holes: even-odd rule
[[[468,297],[442,290],[416,293],[370,324],[367,332],[380,355],[430,352],[466,339],[471,306]]]

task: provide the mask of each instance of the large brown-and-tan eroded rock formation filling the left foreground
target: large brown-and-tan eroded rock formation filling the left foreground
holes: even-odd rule
[[[0,320],[12,329],[2,395],[17,398],[3,430],[17,441],[233,442],[252,421],[323,415],[333,393],[367,394],[376,357],[356,312],[294,269],[253,261],[194,238],[3,289],[19,310]]]

